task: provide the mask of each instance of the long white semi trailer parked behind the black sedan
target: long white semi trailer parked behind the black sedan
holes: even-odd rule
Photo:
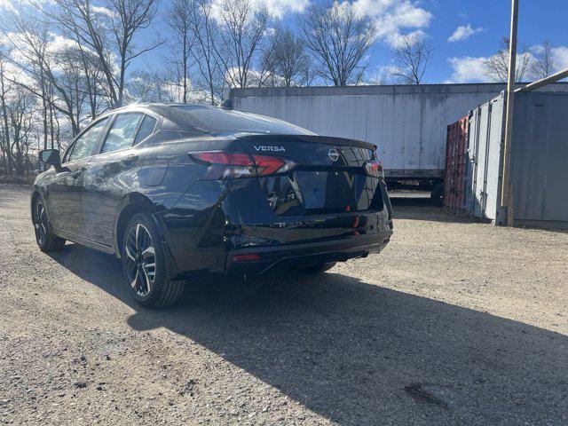
[[[548,90],[565,91],[565,84]],[[446,130],[464,113],[493,99],[501,83],[233,89],[234,109],[293,122],[319,135],[378,146],[390,188],[442,193]]]

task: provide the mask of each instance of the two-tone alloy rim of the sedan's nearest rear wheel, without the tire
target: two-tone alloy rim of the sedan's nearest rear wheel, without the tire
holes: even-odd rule
[[[130,286],[138,296],[147,296],[154,285],[156,263],[152,236],[146,226],[136,224],[130,228],[124,253]]]

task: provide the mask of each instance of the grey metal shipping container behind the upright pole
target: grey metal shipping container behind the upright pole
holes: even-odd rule
[[[469,181],[465,209],[506,222],[500,207],[505,99],[499,96],[469,119]],[[568,93],[517,93],[510,182],[515,225],[568,227]]]

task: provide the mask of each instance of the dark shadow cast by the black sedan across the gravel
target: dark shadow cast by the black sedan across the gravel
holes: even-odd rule
[[[334,270],[203,279],[174,306],[149,311],[130,297],[113,256],[76,245],[51,256],[133,308],[133,329],[166,327],[332,422],[565,424],[568,416],[568,338],[546,329]]]

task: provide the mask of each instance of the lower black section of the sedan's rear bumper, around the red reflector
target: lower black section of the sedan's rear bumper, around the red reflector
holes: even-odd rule
[[[225,273],[259,275],[275,268],[344,262],[379,253],[390,241],[392,231],[358,235],[334,241],[287,244],[275,247],[237,248],[226,255]],[[234,256],[255,254],[260,260],[234,261]]]

